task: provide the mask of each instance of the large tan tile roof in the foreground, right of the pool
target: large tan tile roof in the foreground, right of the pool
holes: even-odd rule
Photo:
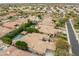
[[[47,35],[32,33],[21,38],[21,41],[27,42],[29,48],[38,54],[44,54],[47,49],[55,50],[55,43],[42,41],[41,39],[44,37],[47,37]]]

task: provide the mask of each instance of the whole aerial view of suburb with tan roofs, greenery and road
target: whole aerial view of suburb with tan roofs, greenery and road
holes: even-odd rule
[[[79,56],[79,5],[0,4],[0,56]]]

